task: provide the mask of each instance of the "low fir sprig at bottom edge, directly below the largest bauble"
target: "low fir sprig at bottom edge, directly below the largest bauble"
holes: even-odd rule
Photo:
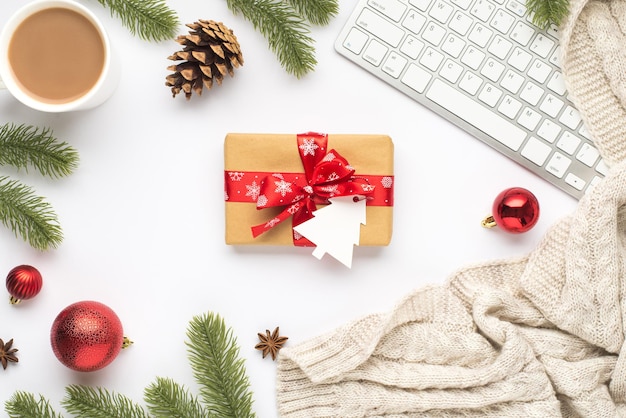
[[[141,406],[106,389],[69,385],[65,391],[61,405],[76,418],[149,418]]]

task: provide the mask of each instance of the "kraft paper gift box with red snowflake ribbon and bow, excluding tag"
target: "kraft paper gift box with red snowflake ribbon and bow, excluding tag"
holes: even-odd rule
[[[393,227],[393,142],[386,135],[229,133],[224,141],[226,244],[312,243],[293,227],[328,198],[366,199],[359,245]]]

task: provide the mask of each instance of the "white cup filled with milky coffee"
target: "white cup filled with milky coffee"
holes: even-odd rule
[[[56,14],[49,15],[49,13]],[[64,22],[60,20],[61,17],[68,17],[71,20]],[[39,23],[42,22],[41,19],[44,19],[43,22],[45,24],[50,22],[57,22],[57,25],[60,25],[58,22],[63,22],[64,24],[61,29],[53,27],[53,30],[38,35],[36,39],[39,39],[41,43],[32,42],[36,44],[32,45],[32,51],[29,51],[31,48],[30,44],[22,44],[21,48],[17,48],[16,45],[19,45],[18,39],[21,42],[22,39],[28,39],[28,37],[15,36],[14,38],[14,35],[16,33],[18,35],[25,34],[26,32],[20,31],[24,31],[24,27],[29,25],[30,22],[37,22],[36,19],[39,19]],[[85,36],[70,36],[72,35],[71,28],[75,24],[76,26],[82,25],[82,29],[85,29]],[[33,25],[33,27],[40,28],[42,25],[37,24]],[[52,40],[51,37],[61,33],[64,34],[63,36],[67,35],[65,40],[68,41],[68,46],[65,54],[62,55],[64,57],[63,62],[53,65],[55,60],[46,59],[46,54],[52,54],[48,55],[47,58],[59,56],[58,54],[53,54],[52,51],[57,46],[65,46],[66,42],[61,38]],[[87,43],[82,42],[88,39],[96,42],[98,37],[101,39],[102,44],[96,48],[87,48]],[[74,44],[73,39],[81,39],[82,43]],[[46,44],[45,42],[48,43]],[[55,43],[52,44],[50,42]],[[98,51],[97,54],[87,54],[89,57],[87,61],[92,63],[93,71],[87,72],[87,70],[83,70],[83,68],[87,68],[89,65],[85,65],[85,61],[83,61],[85,54],[80,52],[80,48]],[[31,57],[31,54],[41,57],[38,58],[40,61],[32,64],[27,58],[19,58]],[[97,68],[100,65],[101,70],[98,73]],[[80,68],[80,70],[76,68]],[[34,69],[37,69],[37,71],[34,71]],[[21,74],[18,74],[20,71]],[[79,77],[73,74],[76,71],[80,71]],[[43,73],[43,76],[39,73]],[[68,77],[69,80],[67,79]],[[83,78],[86,80],[82,80]],[[81,83],[84,85],[74,82],[74,80],[79,79],[82,80]],[[0,88],[7,89],[17,100],[33,109],[44,112],[69,112],[90,109],[107,100],[113,94],[118,81],[119,63],[111,51],[111,44],[102,23],[89,9],[75,1],[36,0],[28,3],[9,18],[0,32]],[[64,84],[65,87],[63,87]],[[72,88],[68,88],[68,85],[71,85]],[[77,90],[73,91],[73,88]],[[65,92],[68,93],[67,97],[63,97]]]

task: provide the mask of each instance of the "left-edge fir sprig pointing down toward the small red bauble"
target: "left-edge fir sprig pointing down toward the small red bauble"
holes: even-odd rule
[[[63,241],[52,206],[32,188],[6,176],[0,176],[0,222],[38,250],[56,248]]]

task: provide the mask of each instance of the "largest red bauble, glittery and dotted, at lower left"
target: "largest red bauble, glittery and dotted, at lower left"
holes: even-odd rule
[[[76,302],[54,320],[52,350],[70,369],[90,372],[111,363],[124,342],[122,323],[108,306],[94,301]]]

